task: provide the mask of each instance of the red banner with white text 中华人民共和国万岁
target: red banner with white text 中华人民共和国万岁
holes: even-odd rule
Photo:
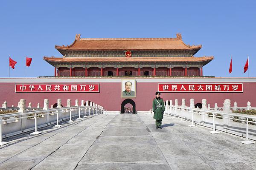
[[[16,93],[99,93],[99,84],[16,84]]]

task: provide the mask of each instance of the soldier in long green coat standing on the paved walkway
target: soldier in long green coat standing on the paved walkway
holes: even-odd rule
[[[156,92],[156,98],[153,100],[153,112],[154,112],[154,119],[156,119],[156,128],[162,129],[162,119],[163,119],[163,112],[164,112],[164,102],[163,99],[160,98],[160,92]]]

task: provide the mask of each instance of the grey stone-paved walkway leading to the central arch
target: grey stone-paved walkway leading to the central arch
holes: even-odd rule
[[[0,148],[0,170],[255,170],[256,144],[151,114],[105,114],[24,135]],[[254,169],[253,169],[254,168]]]

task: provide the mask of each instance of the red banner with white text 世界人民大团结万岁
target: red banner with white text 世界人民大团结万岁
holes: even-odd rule
[[[158,84],[160,92],[243,92],[241,83],[160,83]]]

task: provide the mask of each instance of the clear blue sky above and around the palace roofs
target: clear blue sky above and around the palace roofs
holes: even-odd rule
[[[9,55],[18,63],[11,77],[53,76],[44,56],[61,57],[55,45],[81,38],[160,38],[181,33],[186,44],[202,44],[196,57],[214,56],[204,75],[256,77],[255,0],[6,0],[0,4],[0,77],[8,77]]]

